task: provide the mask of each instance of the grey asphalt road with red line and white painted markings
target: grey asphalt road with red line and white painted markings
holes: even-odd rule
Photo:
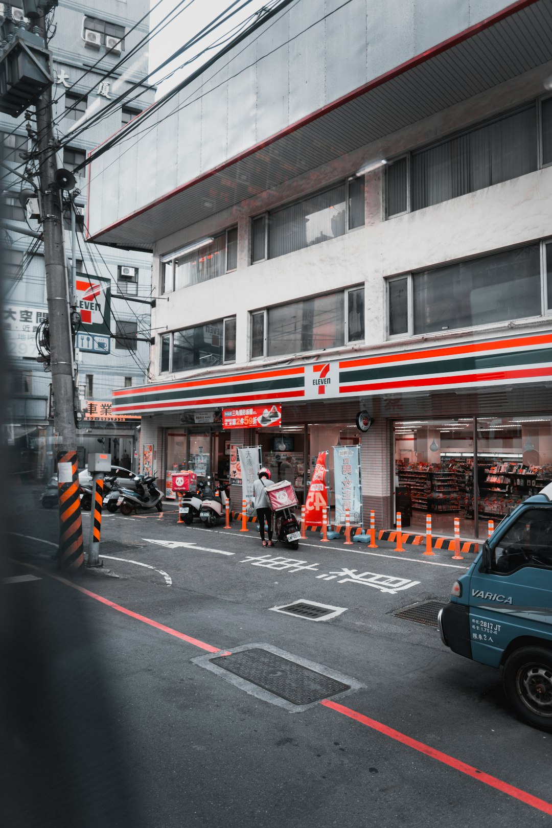
[[[103,572],[60,580],[45,543],[55,513],[14,517],[4,576],[37,580],[2,586],[20,633],[12,688],[25,686],[12,699],[28,710],[40,698],[27,753],[50,748],[51,776],[56,763],[70,772],[52,801],[48,775],[31,797],[14,782],[19,821],[3,824],[34,825],[46,797],[36,824],[57,828],[65,816],[79,828],[552,826],[552,806],[531,798],[552,802],[552,736],[516,720],[500,672],[394,614],[444,602],[473,556],[316,535],[286,551],[263,548],[253,525],[175,521],[105,515]],[[298,599],[343,611],[317,622],[272,611]],[[289,712],[193,661],[252,644],[360,687]]]

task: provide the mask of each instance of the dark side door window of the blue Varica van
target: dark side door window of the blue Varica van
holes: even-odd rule
[[[491,570],[507,574],[521,566],[552,569],[552,509],[529,508],[491,549]]]

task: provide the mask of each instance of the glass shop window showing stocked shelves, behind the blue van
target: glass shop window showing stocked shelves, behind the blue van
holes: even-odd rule
[[[397,421],[396,510],[403,526],[452,535],[487,536],[531,494],[552,482],[552,417],[478,416]],[[475,472],[474,472],[475,464]],[[475,476],[475,480],[474,480]]]

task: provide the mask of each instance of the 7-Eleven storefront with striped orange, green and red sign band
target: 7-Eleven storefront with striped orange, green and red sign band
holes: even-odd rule
[[[360,445],[365,525],[373,509],[377,527],[390,528],[400,508],[412,531],[431,513],[435,532],[452,534],[460,517],[463,537],[485,537],[489,519],[552,481],[552,334],[391,345],[124,388],[113,412],[142,416],[142,469],[161,480],[187,468],[230,480],[236,506],[236,445],[261,445],[272,479],[290,479],[300,499],[319,451],[329,451],[331,492],[332,446]],[[281,419],[262,425],[257,408],[278,406]],[[372,418],[367,431],[361,412]]]

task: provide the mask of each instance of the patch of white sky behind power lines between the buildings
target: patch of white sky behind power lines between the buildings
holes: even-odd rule
[[[151,7],[156,6],[158,0],[151,0]],[[166,58],[175,52],[180,46],[183,46],[190,37],[208,26],[215,17],[218,17],[221,12],[224,12],[229,6],[233,6],[231,11],[239,9],[245,0],[161,0],[160,4],[155,8],[150,15],[150,31],[161,21],[166,15],[169,17],[169,25],[160,31],[158,35],[153,36],[150,42],[150,71],[155,70]],[[273,0],[270,0],[272,5]],[[205,55],[197,56],[206,46],[211,46],[214,41],[219,38],[224,38],[228,35],[234,26],[239,26],[247,17],[257,12],[262,7],[269,5],[269,0],[251,0],[247,5],[238,11],[228,22],[224,22],[218,27],[216,31],[207,35],[199,44],[190,48],[185,54],[180,55],[172,64],[168,65],[166,69],[154,75],[151,79],[152,83],[159,84],[156,98],[166,94],[177,83],[185,79],[187,75],[196,70],[205,60],[216,54],[218,48],[209,50]],[[180,12],[180,13],[179,13]],[[237,33],[237,32],[236,32]],[[185,61],[194,58],[195,60],[190,65],[182,69],[178,69]],[[161,82],[161,79],[167,75],[171,70],[177,70],[175,75],[169,79]]]

